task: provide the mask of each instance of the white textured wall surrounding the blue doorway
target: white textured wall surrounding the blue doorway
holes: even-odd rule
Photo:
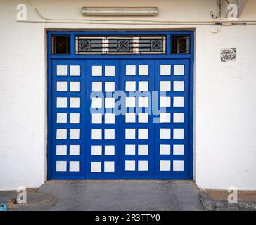
[[[212,0],[32,1],[47,18],[82,19],[82,6],[158,6],[156,18],[212,20]],[[45,28],[196,29],[195,179],[200,188],[256,190],[256,26],[16,23],[16,6],[0,2],[0,190],[38,187],[46,179]],[[27,19],[41,20],[27,4]],[[101,18],[96,18],[101,19]],[[124,18],[131,19],[131,18]],[[104,19],[105,20],[105,19]],[[241,20],[256,20],[248,1]],[[219,49],[236,47],[236,63],[221,63]]]

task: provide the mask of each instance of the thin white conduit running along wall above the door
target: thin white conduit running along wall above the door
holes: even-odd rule
[[[111,25],[256,25],[256,20],[243,20],[243,21],[231,21],[231,20],[215,20],[215,21],[177,21],[177,20],[120,20],[120,19],[111,19],[106,20],[83,20],[83,19],[53,19],[46,18],[44,15],[41,15],[39,10],[32,4],[30,0],[27,2],[34,8],[34,11],[37,12],[37,15],[42,20],[17,20],[20,23],[77,23],[77,24],[111,24]]]

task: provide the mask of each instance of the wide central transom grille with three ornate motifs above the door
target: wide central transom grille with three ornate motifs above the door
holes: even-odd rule
[[[75,37],[76,54],[165,54],[165,36]]]

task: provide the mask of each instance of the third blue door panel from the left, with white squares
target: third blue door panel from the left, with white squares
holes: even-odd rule
[[[120,89],[125,91],[128,98],[134,98],[136,104],[134,105],[135,107],[125,108],[125,113],[136,113],[134,121],[127,121],[126,115],[121,116],[122,143],[120,149],[122,151],[122,178],[153,179],[155,168],[154,126],[150,110],[150,93],[154,90],[154,60],[121,60],[120,67]],[[127,70],[130,67],[135,69],[133,75],[127,75],[127,73],[129,74]],[[132,69],[130,68],[130,70]],[[145,89],[146,86],[148,86],[148,89]],[[132,88],[135,88],[135,94],[134,91],[129,91],[133,90]],[[148,105],[146,103],[145,105],[139,105],[139,98],[148,98]],[[148,120],[146,120],[146,115],[148,115]],[[129,139],[126,134],[128,129],[135,133],[134,137]]]

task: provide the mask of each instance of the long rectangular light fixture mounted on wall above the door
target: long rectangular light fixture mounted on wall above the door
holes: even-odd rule
[[[156,16],[158,7],[82,7],[86,16]]]

